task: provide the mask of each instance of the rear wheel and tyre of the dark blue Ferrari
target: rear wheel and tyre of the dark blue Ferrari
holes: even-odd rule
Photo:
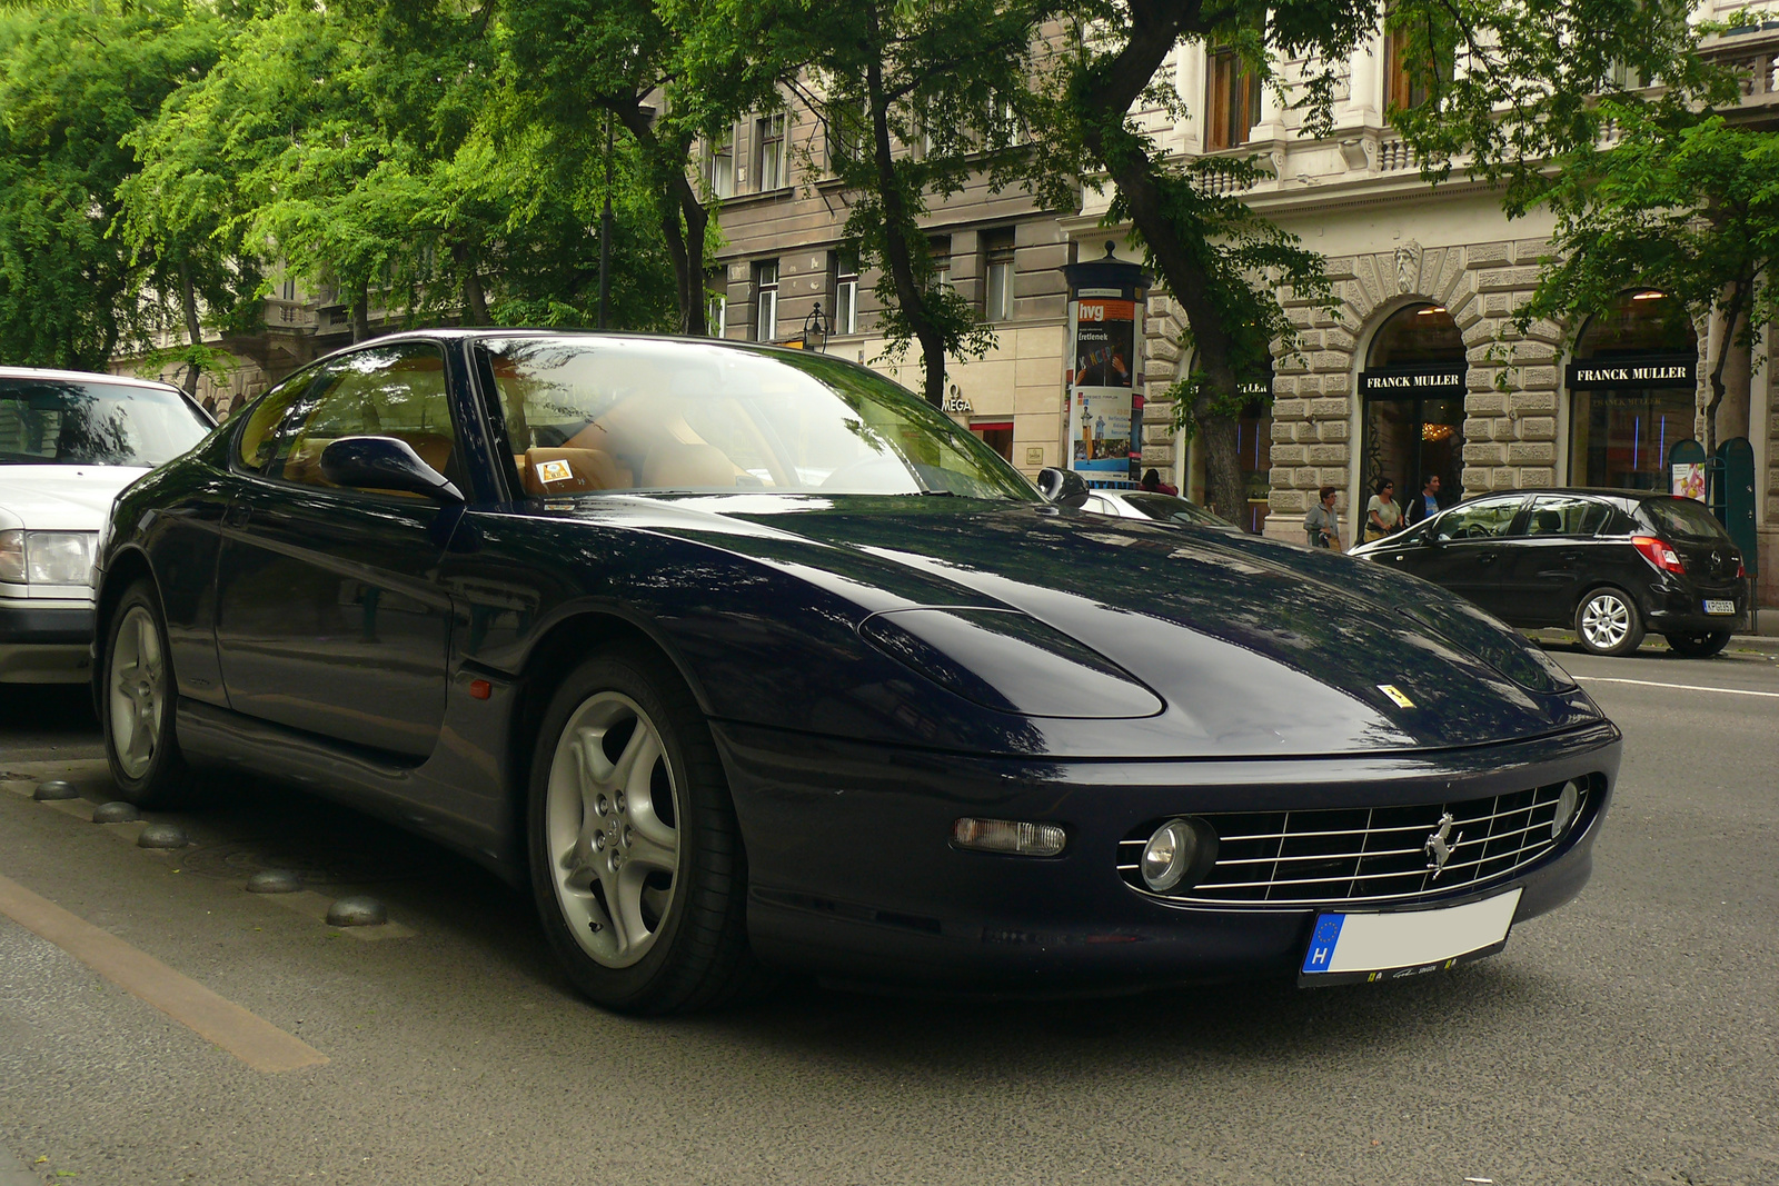
[[[201,798],[180,754],[178,701],[167,619],[155,585],[139,580],[105,622],[105,679],[98,704],[105,761],[121,800],[139,807],[181,807]]]

